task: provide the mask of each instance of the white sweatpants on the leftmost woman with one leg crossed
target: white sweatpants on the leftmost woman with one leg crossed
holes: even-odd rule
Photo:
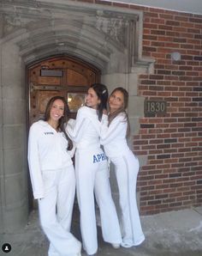
[[[75,195],[73,165],[43,172],[45,198],[39,199],[39,218],[50,241],[49,256],[76,256],[81,244],[69,233]]]

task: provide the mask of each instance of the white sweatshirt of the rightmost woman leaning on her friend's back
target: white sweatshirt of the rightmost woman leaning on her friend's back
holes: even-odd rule
[[[104,145],[104,152],[107,156],[116,157],[130,150],[126,139],[127,125],[125,113],[119,113],[111,121],[109,127],[108,117],[103,115],[100,143]]]

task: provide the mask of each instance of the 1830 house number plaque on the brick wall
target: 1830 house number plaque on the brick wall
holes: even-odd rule
[[[166,101],[145,101],[145,116],[155,117],[157,113],[166,113]]]

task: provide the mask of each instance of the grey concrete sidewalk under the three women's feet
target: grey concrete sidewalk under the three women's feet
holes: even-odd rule
[[[98,227],[98,256],[201,256],[202,207],[141,216],[146,235],[139,247],[114,249],[102,240]],[[73,233],[80,239],[78,212],[74,210]],[[3,253],[3,243],[12,246],[10,253]],[[46,256],[48,241],[39,227],[38,211],[33,210],[24,229],[15,234],[0,236],[0,255]],[[82,252],[85,256],[86,253]]]

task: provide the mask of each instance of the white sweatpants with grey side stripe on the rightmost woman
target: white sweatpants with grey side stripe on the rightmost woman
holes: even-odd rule
[[[138,246],[145,240],[136,201],[136,183],[140,163],[130,150],[122,156],[110,158],[110,161],[115,165],[119,189],[122,210],[122,245],[125,247]]]

